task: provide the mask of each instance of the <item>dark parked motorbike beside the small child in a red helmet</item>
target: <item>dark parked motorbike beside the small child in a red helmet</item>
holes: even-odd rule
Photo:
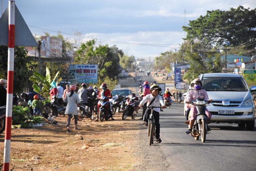
[[[58,116],[59,115],[64,115],[65,117],[65,111],[66,111],[66,107],[67,107],[67,103],[63,102],[64,106],[61,106],[58,103],[58,95],[54,95],[51,102],[49,103],[45,103],[44,107],[42,109],[42,114],[51,114],[51,115],[55,115]]]

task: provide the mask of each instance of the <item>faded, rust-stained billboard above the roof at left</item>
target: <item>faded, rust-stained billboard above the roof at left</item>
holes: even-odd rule
[[[62,39],[42,36],[41,56],[61,58],[62,57]]]

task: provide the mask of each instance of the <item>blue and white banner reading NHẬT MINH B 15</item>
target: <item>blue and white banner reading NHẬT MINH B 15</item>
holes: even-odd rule
[[[79,83],[98,83],[98,65],[70,65],[69,73]]]

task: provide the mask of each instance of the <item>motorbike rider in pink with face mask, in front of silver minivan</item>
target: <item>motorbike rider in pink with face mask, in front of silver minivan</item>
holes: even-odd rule
[[[198,98],[213,101],[212,99],[209,99],[207,91],[202,87],[202,81],[200,79],[195,79],[192,84],[192,90],[188,92],[187,95],[187,103],[190,103],[190,101],[196,100]],[[192,131],[192,127],[194,125],[195,119],[197,117],[197,109],[194,105],[190,105],[190,113],[189,113],[189,120],[187,121],[189,123],[189,127],[187,130]],[[212,115],[206,108],[205,114],[207,115],[207,131],[210,131],[211,128],[208,127],[208,124],[211,121]]]

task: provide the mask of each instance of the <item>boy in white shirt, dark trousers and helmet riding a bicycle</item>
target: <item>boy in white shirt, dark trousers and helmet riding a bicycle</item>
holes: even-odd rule
[[[142,108],[143,104],[147,102],[147,106],[155,106],[155,107],[160,107],[161,104],[161,108],[165,108],[165,103],[163,103],[163,99],[161,98],[161,96],[159,95],[159,92],[162,89],[157,85],[157,84],[153,84],[152,86],[150,86],[150,92],[151,94],[146,95],[143,100],[140,102],[139,107]],[[154,100],[154,101],[153,101]],[[151,104],[150,104],[151,103]],[[150,105],[149,105],[150,104]],[[149,110],[147,112],[147,110]],[[145,111],[145,113],[151,113],[151,109],[147,109]],[[161,143],[162,140],[160,139],[160,124],[159,124],[159,112],[160,112],[160,108],[154,108],[153,109],[154,112],[154,118],[155,118],[155,124],[156,124],[156,142]],[[148,119],[148,118],[147,118]],[[146,120],[147,121],[147,120]],[[144,126],[147,126],[147,122],[143,123]]]

